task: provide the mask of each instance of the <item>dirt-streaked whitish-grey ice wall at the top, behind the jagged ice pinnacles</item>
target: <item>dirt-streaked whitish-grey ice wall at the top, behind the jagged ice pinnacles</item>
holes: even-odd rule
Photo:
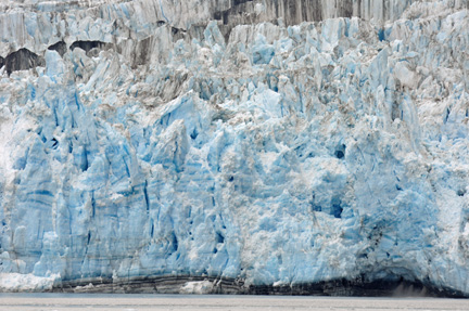
[[[466,1],[466,0],[461,0]],[[377,23],[397,20],[411,0],[135,0],[0,1],[0,56],[22,48],[42,53],[51,44],[77,40],[119,42],[151,35],[155,24],[187,30],[218,20],[229,33],[239,24],[287,25],[358,16]],[[460,2],[460,1],[459,1]]]

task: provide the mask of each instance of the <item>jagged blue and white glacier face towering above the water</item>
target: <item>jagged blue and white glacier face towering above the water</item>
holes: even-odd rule
[[[68,2],[0,4],[0,290],[469,295],[468,1]]]

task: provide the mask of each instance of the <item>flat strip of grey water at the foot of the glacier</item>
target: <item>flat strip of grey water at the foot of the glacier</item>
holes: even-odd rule
[[[469,310],[469,299],[221,295],[0,294],[0,310]]]

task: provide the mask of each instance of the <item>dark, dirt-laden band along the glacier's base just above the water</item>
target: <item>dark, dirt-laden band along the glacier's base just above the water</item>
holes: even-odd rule
[[[224,295],[288,295],[344,297],[447,297],[469,298],[452,288],[408,281],[348,281],[334,280],[290,285],[246,285],[239,278],[210,276],[136,276],[129,278],[81,278],[55,284],[54,293],[114,293],[114,294],[179,294],[188,282],[210,281],[213,288],[204,294]],[[92,286],[91,286],[92,285]]]

